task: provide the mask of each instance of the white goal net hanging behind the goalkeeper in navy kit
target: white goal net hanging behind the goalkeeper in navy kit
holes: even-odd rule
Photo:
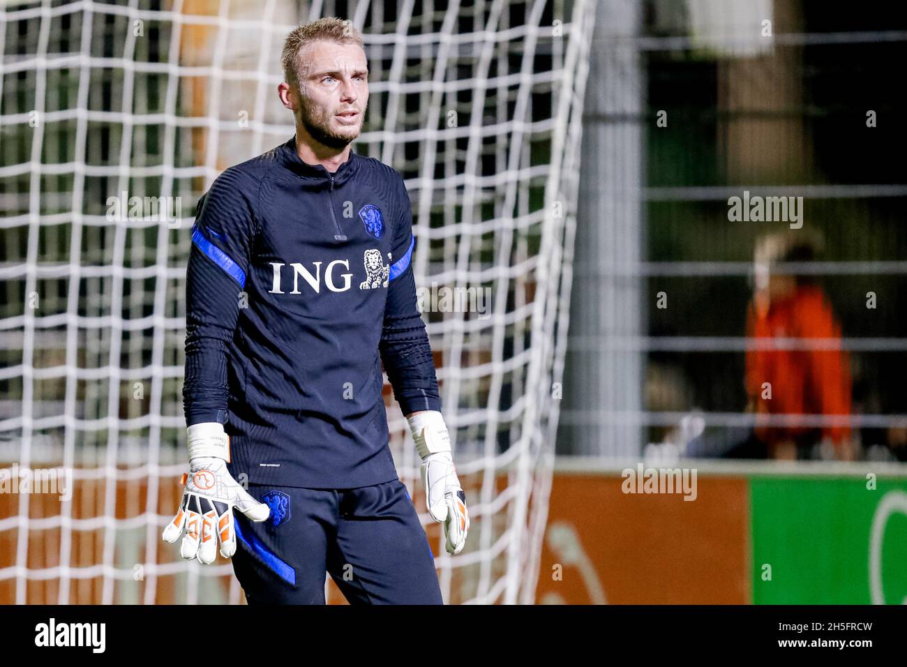
[[[229,561],[186,562],[161,542],[187,468],[190,229],[219,172],[292,135],[280,49],[319,15],[364,34],[371,97],[354,150],[401,172],[413,201],[416,284],[472,517],[462,554],[424,512],[389,386],[385,400],[444,599],[533,602],[593,5],[0,4],[0,603],[242,601]]]

